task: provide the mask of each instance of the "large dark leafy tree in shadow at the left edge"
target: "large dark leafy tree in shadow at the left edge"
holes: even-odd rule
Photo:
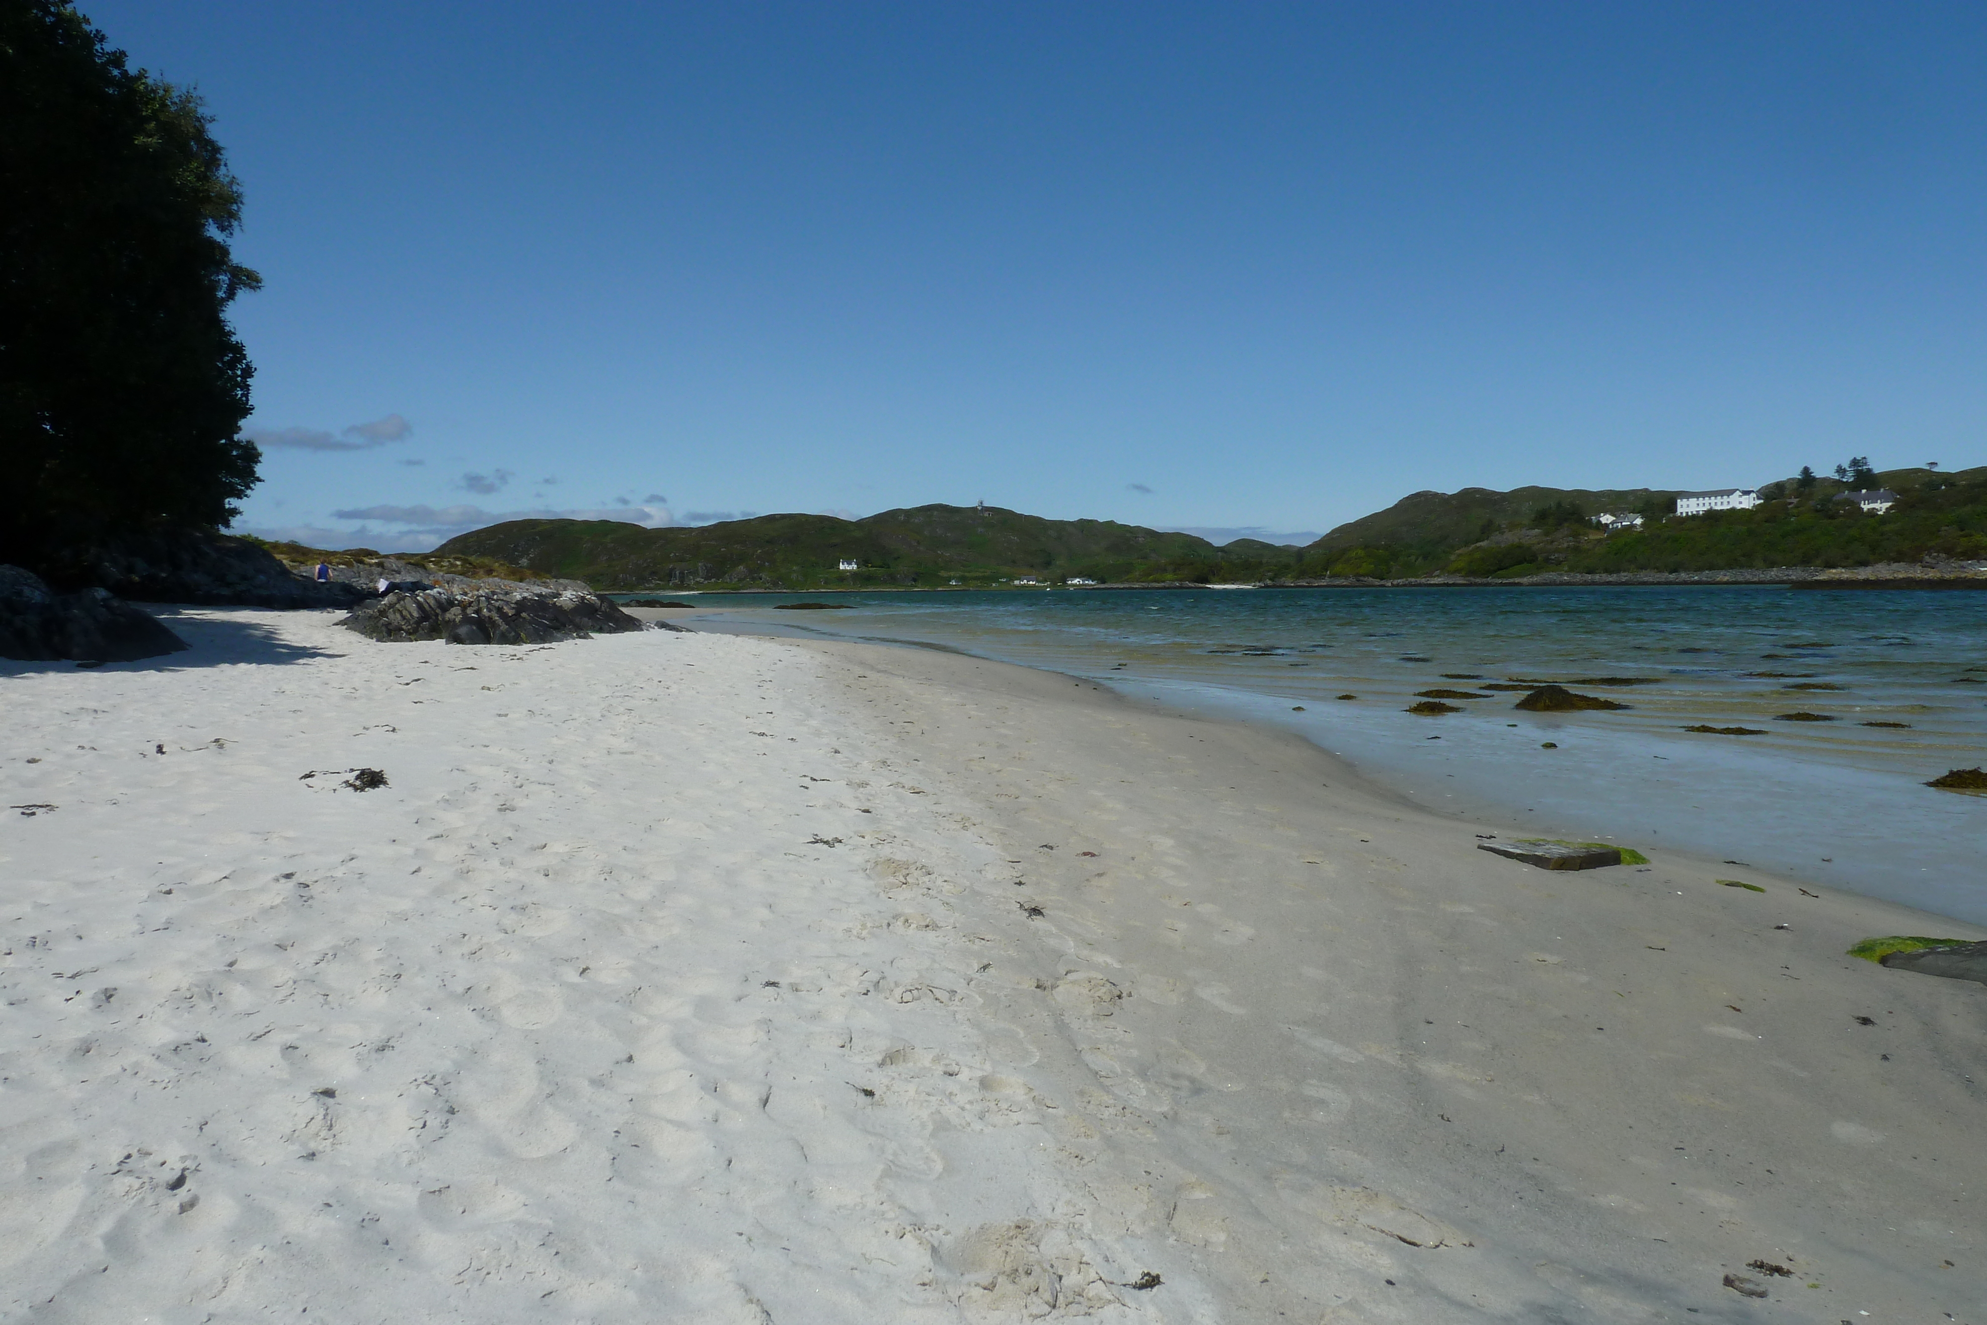
[[[256,483],[260,278],[209,117],[58,0],[0,0],[0,562],[133,526],[223,526]]]

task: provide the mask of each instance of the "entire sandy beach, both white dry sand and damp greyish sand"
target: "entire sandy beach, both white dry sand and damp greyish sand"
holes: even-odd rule
[[[1973,926],[938,652],[169,618],[0,663],[0,1319],[1987,1321],[1987,987],[1842,956]]]

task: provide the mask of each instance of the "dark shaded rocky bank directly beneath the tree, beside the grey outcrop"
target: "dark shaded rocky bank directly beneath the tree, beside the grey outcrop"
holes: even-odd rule
[[[358,584],[316,584],[292,574],[266,548],[203,528],[135,530],[52,558],[48,578],[107,588],[137,602],[240,608],[350,608]]]

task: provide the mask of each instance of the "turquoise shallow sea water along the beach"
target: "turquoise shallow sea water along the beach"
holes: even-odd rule
[[[779,602],[841,612],[781,612]],[[725,594],[693,624],[914,642],[1296,729],[1403,795],[1552,836],[1667,842],[1987,924],[1987,594],[1784,588]],[[1452,675],[1445,675],[1452,673]],[[1780,673],[1780,675],[1762,675]],[[1580,683],[1633,677],[1639,685]],[[1566,681],[1631,707],[1405,713]],[[1808,689],[1796,689],[1808,687]],[[1337,699],[1337,695],[1357,699]],[[1296,711],[1301,709],[1301,711]],[[1806,711],[1832,721],[1780,721]],[[1868,727],[1864,723],[1908,723]],[[1753,727],[1697,735],[1683,727]],[[1439,739],[1431,739],[1439,737]],[[1558,749],[1542,749],[1552,741]]]

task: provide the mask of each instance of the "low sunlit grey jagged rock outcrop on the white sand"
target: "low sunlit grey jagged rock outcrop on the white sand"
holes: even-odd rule
[[[340,622],[368,640],[447,640],[449,644],[548,644],[642,630],[606,598],[535,586],[395,590]],[[680,630],[658,622],[658,630]]]

